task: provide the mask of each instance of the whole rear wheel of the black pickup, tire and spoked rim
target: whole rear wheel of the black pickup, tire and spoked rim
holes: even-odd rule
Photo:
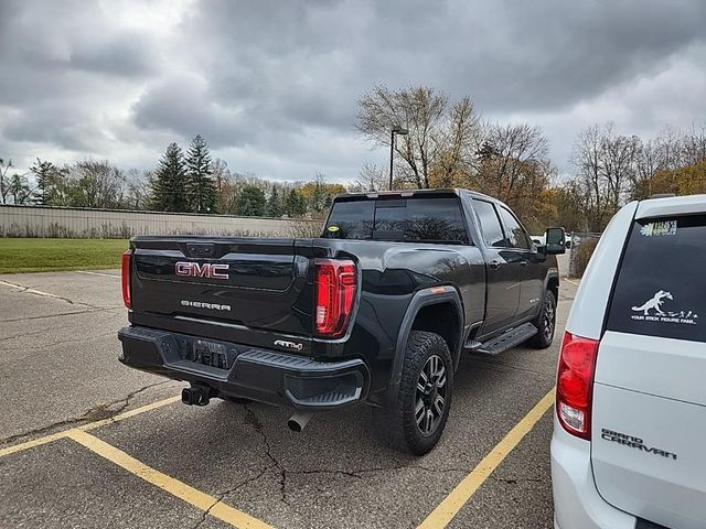
[[[376,408],[378,431],[393,449],[422,455],[441,438],[451,407],[453,364],[446,341],[413,331],[399,390],[391,408]]]

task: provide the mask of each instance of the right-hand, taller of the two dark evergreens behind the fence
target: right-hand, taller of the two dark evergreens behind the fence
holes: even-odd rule
[[[186,153],[189,205],[194,213],[215,213],[218,194],[211,177],[213,168],[208,145],[201,134],[191,141]]]

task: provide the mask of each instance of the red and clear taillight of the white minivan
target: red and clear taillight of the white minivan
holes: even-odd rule
[[[591,397],[598,356],[597,339],[564,334],[556,376],[556,414],[564,429],[590,440]]]

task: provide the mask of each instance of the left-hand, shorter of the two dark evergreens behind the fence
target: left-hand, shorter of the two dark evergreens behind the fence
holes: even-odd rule
[[[184,154],[176,143],[170,143],[151,182],[150,208],[158,212],[186,212],[186,184]]]

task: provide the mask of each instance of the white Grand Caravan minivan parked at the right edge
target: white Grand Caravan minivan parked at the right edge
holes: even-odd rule
[[[613,217],[557,371],[555,527],[706,528],[706,195]]]

